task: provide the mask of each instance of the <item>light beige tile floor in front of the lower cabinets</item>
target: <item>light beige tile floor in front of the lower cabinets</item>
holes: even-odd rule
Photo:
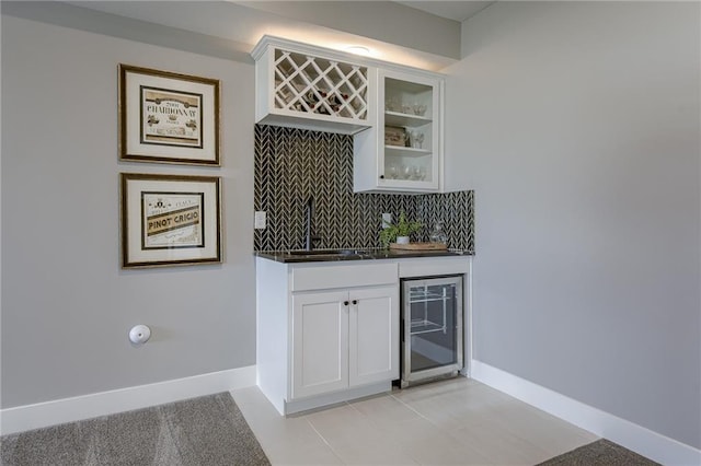
[[[231,394],[274,465],[536,465],[598,439],[466,377],[288,418]]]

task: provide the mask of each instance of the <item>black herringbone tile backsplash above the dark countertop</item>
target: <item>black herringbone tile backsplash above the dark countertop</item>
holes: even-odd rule
[[[473,191],[435,195],[353,193],[353,137],[275,126],[255,126],[254,208],[267,217],[255,230],[254,251],[304,247],[304,202],[313,198],[315,248],[380,247],[382,212],[397,219],[403,209],[428,241],[444,222],[451,249],[474,251]]]

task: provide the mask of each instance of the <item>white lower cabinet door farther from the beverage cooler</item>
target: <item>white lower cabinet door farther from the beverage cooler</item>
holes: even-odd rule
[[[348,386],[347,292],[292,295],[292,399]]]

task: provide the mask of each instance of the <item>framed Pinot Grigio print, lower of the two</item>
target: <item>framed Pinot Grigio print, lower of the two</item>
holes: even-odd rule
[[[220,178],[120,174],[122,267],[221,263]]]

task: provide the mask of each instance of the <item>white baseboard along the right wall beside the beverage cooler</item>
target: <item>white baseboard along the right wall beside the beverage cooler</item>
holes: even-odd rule
[[[472,360],[470,376],[664,465],[701,465],[701,450]]]

